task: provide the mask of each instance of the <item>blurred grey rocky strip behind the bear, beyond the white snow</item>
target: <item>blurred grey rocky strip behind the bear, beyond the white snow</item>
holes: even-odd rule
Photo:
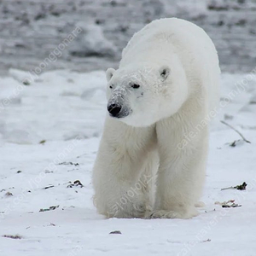
[[[77,26],[82,32],[44,70],[117,67],[134,32],[151,20],[173,16],[206,30],[222,71],[253,69],[255,0],[0,0],[0,72],[35,69]]]

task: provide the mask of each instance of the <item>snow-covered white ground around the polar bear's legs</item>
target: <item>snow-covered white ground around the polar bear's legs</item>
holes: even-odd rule
[[[27,76],[10,70],[0,78],[1,256],[256,255],[255,73],[222,75],[206,206],[189,220],[97,214],[91,169],[105,116],[104,73],[54,71],[20,85]],[[230,147],[241,137],[219,119],[251,143]],[[221,190],[243,182],[246,190]],[[229,200],[241,207],[215,204]],[[115,230],[121,234],[109,234]]]

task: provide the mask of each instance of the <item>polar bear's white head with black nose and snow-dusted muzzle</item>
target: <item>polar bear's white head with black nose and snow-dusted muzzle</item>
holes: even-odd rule
[[[106,75],[108,113],[131,126],[153,125],[171,116],[188,95],[186,76],[177,67],[108,68]]]

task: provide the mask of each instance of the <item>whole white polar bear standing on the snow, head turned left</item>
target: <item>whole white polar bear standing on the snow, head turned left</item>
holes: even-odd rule
[[[197,215],[219,74],[212,40],[189,21],[154,20],[131,38],[119,69],[107,71],[108,116],[93,170],[99,213]]]

